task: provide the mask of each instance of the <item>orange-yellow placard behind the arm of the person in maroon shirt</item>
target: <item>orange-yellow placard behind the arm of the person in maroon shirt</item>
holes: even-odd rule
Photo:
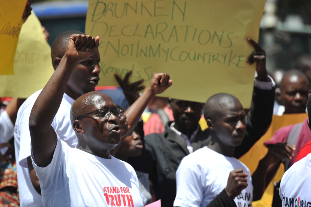
[[[275,133],[275,131],[280,129],[281,127],[304,122],[304,120],[307,117],[308,117],[307,113],[283,114],[282,116],[273,115],[271,126],[269,127],[266,134],[262,136],[260,140],[258,140],[256,144],[246,154],[244,154],[239,160],[242,163],[244,163],[249,168],[251,173],[253,174],[258,166],[259,161],[268,152],[268,148],[265,147],[263,143],[265,141],[270,140],[273,134]],[[269,207],[272,205],[273,190],[274,190],[273,183],[279,182],[283,174],[284,174],[284,165],[281,164],[275,177],[272,179],[272,182],[269,184],[266,191],[264,192],[262,199],[258,201],[254,201],[253,207]]]

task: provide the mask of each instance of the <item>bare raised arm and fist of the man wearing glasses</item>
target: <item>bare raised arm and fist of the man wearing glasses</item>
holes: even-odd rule
[[[29,117],[29,130],[32,152],[39,167],[46,167],[52,161],[57,135],[51,124],[72,71],[79,62],[93,55],[98,46],[99,37],[71,35],[64,57],[35,101]]]

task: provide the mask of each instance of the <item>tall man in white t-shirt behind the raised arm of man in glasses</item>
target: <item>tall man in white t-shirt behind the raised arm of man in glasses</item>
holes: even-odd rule
[[[51,48],[53,67],[56,70],[66,52],[67,42],[71,34],[84,34],[79,31],[66,31],[59,34],[54,40]],[[63,99],[56,113],[52,127],[61,140],[65,141],[68,146],[76,147],[78,143],[77,136],[71,127],[70,108],[81,94],[95,90],[99,80],[100,55],[98,50],[83,62],[80,62],[72,72]],[[15,155],[17,179],[20,195],[21,207],[41,207],[43,206],[40,183],[36,177],[30,158],[30,133],[29,133],[29,116],[35,100],[41,90],[32,94],[21,105],[17,113],[14,138],[15,138]]]

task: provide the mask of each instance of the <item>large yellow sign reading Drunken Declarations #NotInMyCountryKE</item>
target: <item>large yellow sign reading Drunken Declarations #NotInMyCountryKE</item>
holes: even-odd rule
[[[245,61],[258,40],[265,0],[89,0],[86,34],[100,36],[100,84],[117,85],[166,72],[161,96],[205,102],[226,92],[251,103],[255,64]]]

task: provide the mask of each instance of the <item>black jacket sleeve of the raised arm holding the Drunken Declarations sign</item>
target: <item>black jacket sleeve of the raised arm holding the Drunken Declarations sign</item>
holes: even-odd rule
[[[262,137],[272,121],[275,88],[262,90],[254,87],[251,108],[246,117],[246,134],[241,145],[235,147],[234,157],[242,155]]]

